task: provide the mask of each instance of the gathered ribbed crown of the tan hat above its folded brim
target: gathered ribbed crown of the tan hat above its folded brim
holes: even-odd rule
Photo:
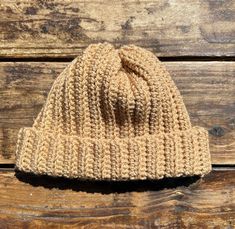
[[[191,127],[182,97],[150,51],[89,45],[57,77],[35,128],[91,138],[135,137]]]

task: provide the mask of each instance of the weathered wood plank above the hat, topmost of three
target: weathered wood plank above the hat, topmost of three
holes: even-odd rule
[[[134,43],[158,56],[234,56],[235,2],[2,1],[0,57],[71,57],[90,43]]]

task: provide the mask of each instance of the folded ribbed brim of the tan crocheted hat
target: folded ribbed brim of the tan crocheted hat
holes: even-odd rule
[[[195,126],[172,133],[94,139],[22,128],[15,168],[95,180],[204,175],[211,171],[208,132]]]

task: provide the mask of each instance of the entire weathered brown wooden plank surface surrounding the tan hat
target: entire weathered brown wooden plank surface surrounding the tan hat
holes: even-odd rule
[[[79,182],[15,174],[19,128],[90,43],[154,52],[193,125],[209,131],[201,179]],[[0,228],[235,228],[235,1],[0,1]]]

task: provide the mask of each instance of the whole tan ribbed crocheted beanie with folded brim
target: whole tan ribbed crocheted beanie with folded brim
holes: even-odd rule
[[[57,77],[16,170],[96,180],[160,179],[211,170],[208,132],[192,126],[159,59],[133,44],[89,45]]]

